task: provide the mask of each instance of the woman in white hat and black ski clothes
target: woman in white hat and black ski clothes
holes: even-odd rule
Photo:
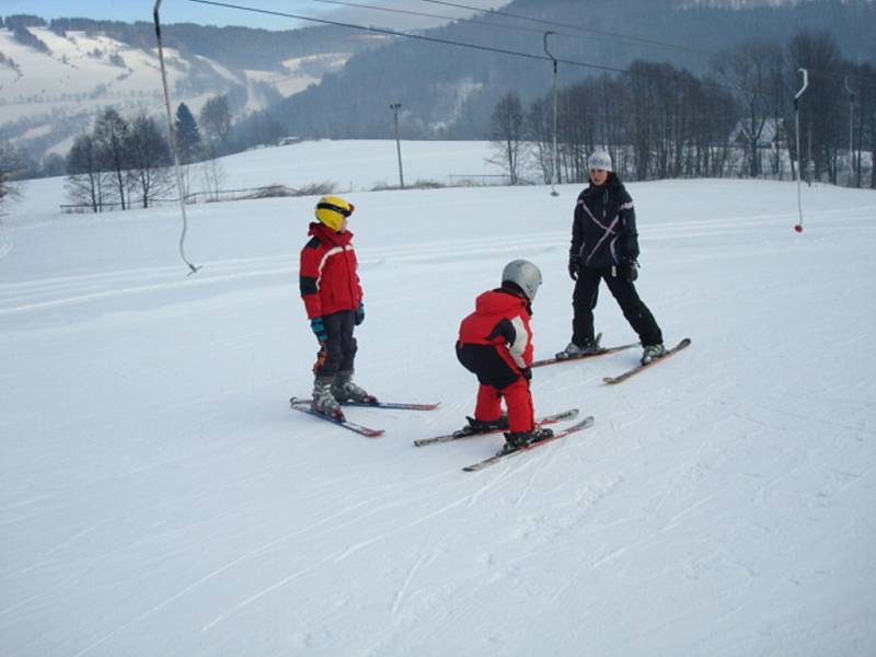
[[[633,281],[638,277],[638,233],[633,198],[614,174],[608,153],[597,151],[588,160],[590,185],[578,196],[572,223],[568,273],[575,280],[572,306],[572,342],[557,358],[599,350],[593,333],[593,309],[599,283],[604,279],[623,315],[644,347],[642,362],[666,353],[660,327],[638,298]]]

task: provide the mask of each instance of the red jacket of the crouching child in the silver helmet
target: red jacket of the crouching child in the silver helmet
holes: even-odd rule
[[[474,312],[459,327],[461,345],[492,345],[512,371],[532,365],[531,314],[526,299],[497,289],[484,292],[474,303]]]

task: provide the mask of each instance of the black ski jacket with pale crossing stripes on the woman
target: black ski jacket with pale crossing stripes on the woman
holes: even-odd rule
[[[610,267],[638,258],[633,198],[614,173],[604,185],[592,183],[580,193],[572,222],[569,263]]]

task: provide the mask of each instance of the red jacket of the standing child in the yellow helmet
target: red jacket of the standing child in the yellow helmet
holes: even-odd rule
[[[314,222],[308,234],[313,237],[301,250],[299,268],[308,319],[356,310],[362,300],[362,288],[356,274],[353,233],[336,232]]]

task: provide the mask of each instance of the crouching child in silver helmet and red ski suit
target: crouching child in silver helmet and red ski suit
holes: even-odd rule
[[[525,260],[508,263],[502,273],[502,287],[484,292],[475,310],[459,327],[457,357],[477,376],[477,405],[474,418],[464,429],[473,434],[508,429],[505,451],[514,451],[553,436],[551,429],[535,427],[532,394],[531,303],[541,286],[541,272]],[[502,400],[508,415],[502,415]]]

